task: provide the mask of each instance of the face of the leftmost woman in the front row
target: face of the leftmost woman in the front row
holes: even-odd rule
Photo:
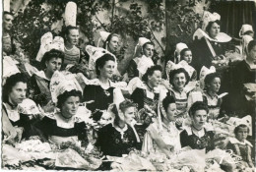
[[[17,83],[12,87],[11,92],[9,93],[9,101],[14,104],[22,103],[26,98],[27,84],[23,82]]]

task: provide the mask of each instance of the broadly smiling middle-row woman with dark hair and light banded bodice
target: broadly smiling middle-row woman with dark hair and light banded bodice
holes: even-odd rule
[[[174,97],[176,106],[177,106],[177,114],[180,118],[176,120],[176,124],[178,126],[182,125],[182,119],[187,116],[187,100],[188,94],[184,87],[189,82],[189,75],[184,68],[179,68],[169,73],[169,83],[172,86],[169,90],[169,94]]]

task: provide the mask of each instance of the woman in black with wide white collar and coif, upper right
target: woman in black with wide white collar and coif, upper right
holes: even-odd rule
[[[221,31],[221,16],[217,13],[204,12],[203,27],[197,29],[193,37],[199,40],[194,42],[192,53],[195,55],[192,66],[199,74],[201,68],[210,68],[215,60],[224,59],[224,42],[231,40],[227,34]]]

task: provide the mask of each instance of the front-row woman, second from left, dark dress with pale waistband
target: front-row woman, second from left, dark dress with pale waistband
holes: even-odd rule
[[[63,82],[65,83],[65,82]],[[60,109],[55,114],[46,114],[43,119],[36,124],[36,128],[42,133],[42,137],[56,144],[76,143],[85,145],[88,141],[86,123],[76,118],[82,93],[79,90],[66,90],[66,84],[60,84],[57,95],[57,107]]]

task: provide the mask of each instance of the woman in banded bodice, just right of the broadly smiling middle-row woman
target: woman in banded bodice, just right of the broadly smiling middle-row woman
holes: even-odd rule
[[[221,87],[221,77],[217,73],[211,73],[205,78],[205,92],[203,99],[209,108],[210,119],[217,119],[220,115],[222,98],[217,94]]]

